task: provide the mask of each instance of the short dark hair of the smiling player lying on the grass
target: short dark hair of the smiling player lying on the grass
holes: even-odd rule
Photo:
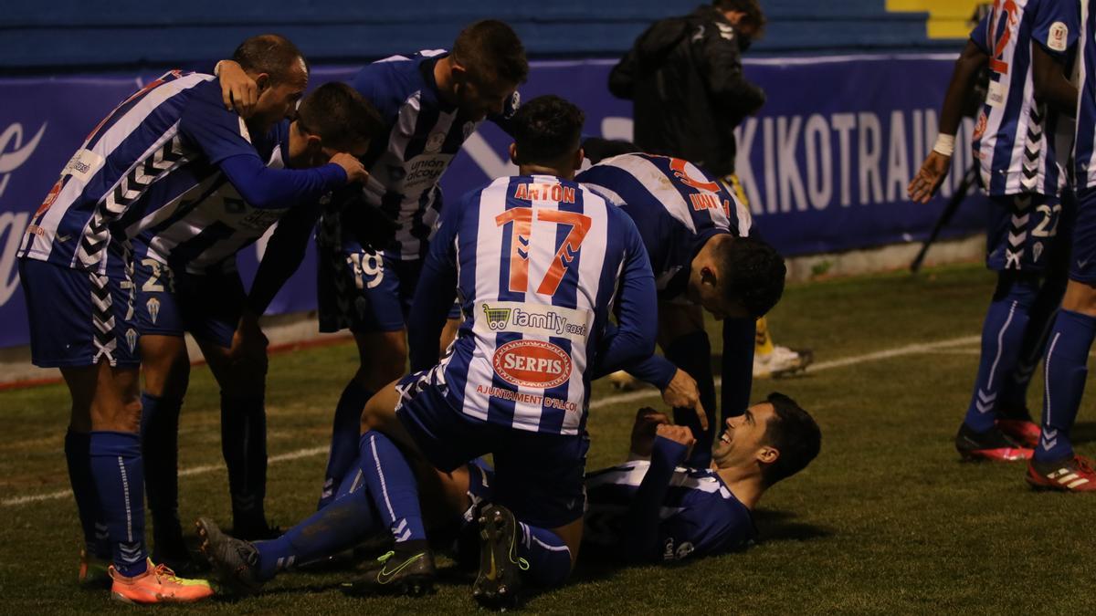
[[[765,444],[780,453],[762,470],[762,480],[768,487],[807,468],[818,457],[822,431],[810,413],[784,393],[774,391],[765,401],[775,411],[765,425]]]

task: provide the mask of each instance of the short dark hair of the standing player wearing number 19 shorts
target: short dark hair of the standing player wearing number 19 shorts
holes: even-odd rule
[[[461,30],[453,44],[453,58],[486,83],[525,83],[529,76],[522,39],[499,20],[478,21]]]

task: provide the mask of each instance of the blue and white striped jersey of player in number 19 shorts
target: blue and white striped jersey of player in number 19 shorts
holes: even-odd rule
[[[351,83],[388,126],[388,138],[375,139],[363,162],[369,171],[366,201],[399,224],[393,243],[385,250],[390,259],[425,258],[442,209],[437,183],[479,125],[438,93],[434,66],[447,54],[431,49],[391,56],[364,67]],[[503,118],[516,106],[515,93]],[[340,225],[336,208],[324,212],[319,240],[327,248],[362,250],[353,232]]]

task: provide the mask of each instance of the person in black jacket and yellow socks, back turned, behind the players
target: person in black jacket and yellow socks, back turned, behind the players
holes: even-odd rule
[[[609,73],[613,95],[632,101],[640,150],[700,167],[747,206],[734,175],[734,127],[765,104],[765,92],[742,75],[742,53],[764,34],[765,21],[757,0],[713,0],[688,15],[654,22]],[[813,360],[810,351],[774,345],[764,318],[756,332],[735,336],[740,344],[741,336],[755,340],[755,377],[795,374]],[[619,373],[614,383],[621,389],[635,385]]]

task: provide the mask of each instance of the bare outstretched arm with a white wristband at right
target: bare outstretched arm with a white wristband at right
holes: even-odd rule
[[[977,28],[975,28],[977,30]],[[956,133],[962,121],[962,106],[971,89],[974,77],[985,65],[989,56],[973,41],[967,42],[955,70],[951,71],[951,82],[944,95],[944,106],[940,110],[940,133],[936,145],[921,164],[917,174],[910,182],[906,191],[910,198],[918,203],[927,203],[944,183],[951,168],[951,153],[955,151]]]

